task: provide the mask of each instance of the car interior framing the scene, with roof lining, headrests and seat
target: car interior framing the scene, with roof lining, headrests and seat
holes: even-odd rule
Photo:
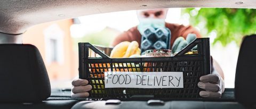
[[[221,98],[154,98],[153,103],[136,98],[122,99],[121,102],[71,98],[70,89],[51,89],[42,54],[36,46],[22,44],[22,34],[44,22],[99,13],[172,7],[256,9],[256,1],[1,1],[0,108],[256,108],[256,73],[253,70],[256,66],[256,51],[253,50],[256,35],[241,39],[235,88],[226,88]]]

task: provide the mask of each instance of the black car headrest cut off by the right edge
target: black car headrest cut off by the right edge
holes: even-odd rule
[[[256,103],[256,35],[246,36],[242,42],[235,79],[235,98],[243,104]],[[230,54],[231,55],[231,54]]]

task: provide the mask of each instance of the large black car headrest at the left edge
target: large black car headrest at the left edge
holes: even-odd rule
[[[0,102],[41,102],[51,94],[38,49],[29,44],[0,44]]]

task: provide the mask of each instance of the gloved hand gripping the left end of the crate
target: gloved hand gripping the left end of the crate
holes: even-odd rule
[[[88,97],[90,91],[92,89],[91,85],[88,85],[88,80],[85,79],[75,79],[72,81],[72,88],[71,88],[71,97],[72,98],[82,98]]]

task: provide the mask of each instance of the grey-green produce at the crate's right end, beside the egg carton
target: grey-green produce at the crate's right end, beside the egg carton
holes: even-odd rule
[[[181,49],[186,47],[189,43],[191,43],[195,39],[196,39],[196,35],[194,33],[189,33],[186,40],[183,37],[178,37],[177,39],[175,39],[172,45],[172,53],[180,52]],[[197,50],[197,46],[195,46],[192,50],[193,51]]]

